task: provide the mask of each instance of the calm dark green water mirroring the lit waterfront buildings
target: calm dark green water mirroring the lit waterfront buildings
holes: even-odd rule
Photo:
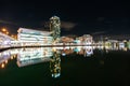
[[[130,48],[66,46],[0,53],[1,85],[128,86]]]

